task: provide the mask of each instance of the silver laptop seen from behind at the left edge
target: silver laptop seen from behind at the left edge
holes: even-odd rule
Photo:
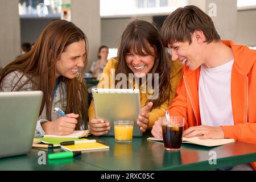
[[[31,150],[42,98],[41,91],[0,92],[0,158]]]

